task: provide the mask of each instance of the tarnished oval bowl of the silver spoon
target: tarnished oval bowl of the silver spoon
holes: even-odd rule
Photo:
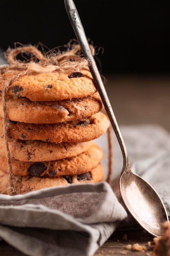
[[[139,175],[125,168],[119,180],[121,198],[131,216],[152,236],[163,234],[168,220],[164,204],[155,189]]]

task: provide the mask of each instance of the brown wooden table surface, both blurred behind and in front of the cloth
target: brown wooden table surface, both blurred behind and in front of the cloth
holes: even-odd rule
[[[106,91],[119,125],[158,124],[170,132],[170,76],[111,76]],[[125,239],[127,236],[127,240]],[[148,243],[150,242],[150,243]],[[126,249],[138,243],[146,250]],[[138,231],[115,231],[95,256],[152,256],[153,237]],[[0,256],[25,256],[0,241]]]

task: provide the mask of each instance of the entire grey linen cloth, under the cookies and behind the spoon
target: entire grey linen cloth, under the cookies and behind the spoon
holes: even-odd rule
[[[160,126],[122,126],[132,171],[157,190],[170,216],[170,134]],[[93,256],[115,229],[138,229],[121,204],[119,180],[123,157],[112,131],[113,171],[110,185],[75,184],[26,195],[0,195],[0,237],[30,256]],[[96,139],[104,151],[107,133]]]

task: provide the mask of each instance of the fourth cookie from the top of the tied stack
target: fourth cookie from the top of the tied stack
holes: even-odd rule
[[[42,162],[73,157],[90,148],[94,143],[87,142],[62,142],[48,143],[38,140],[9,139],[9,152],[12,159],[23,162]],[[6,155],[4,138],[0,137],[0,157]]]

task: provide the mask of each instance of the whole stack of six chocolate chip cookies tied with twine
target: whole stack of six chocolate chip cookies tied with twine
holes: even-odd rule
[[[1,193],[10,193],[8,157],[15,194],[103,179],[103,152],[94,140],[110,121],[87,67],[18,72],[8,65],[0,90]]]

